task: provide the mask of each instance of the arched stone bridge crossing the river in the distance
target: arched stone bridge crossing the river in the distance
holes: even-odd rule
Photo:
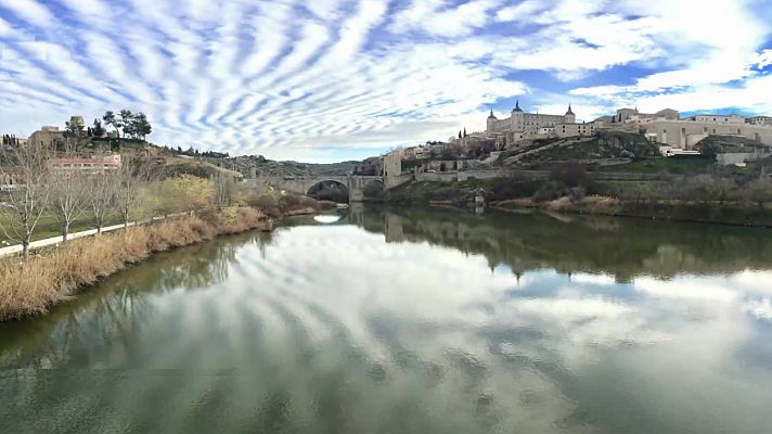
[[[248,186],[261,187],[270,186],[274,189],[288,191],[297,194],[308,194],[311,189],[321,182],[334,181],[348,189],[349,202],[362,202],[364,200],[364,187],[371,182],[377,182],[384,190],[393,189],[412,179],[411,175],[394,177],[383,176],[285,176],[285,177],[258,177],[245,179]]]

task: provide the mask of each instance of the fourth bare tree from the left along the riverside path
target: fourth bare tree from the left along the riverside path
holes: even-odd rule
[[[151,179],[149,159],[137,155],[124,155],[120,167],[113,179],[115,207],[124,221],[124,229],[137,216],[142,199],[142,191]]]

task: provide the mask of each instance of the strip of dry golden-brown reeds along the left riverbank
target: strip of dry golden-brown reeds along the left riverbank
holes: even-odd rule
[[[265,224],[260,210],[227,208],[74,240],[26,264],[7,261],[0,266],[0,321],[44,312],[78,289],[154,252],[244,232]]]

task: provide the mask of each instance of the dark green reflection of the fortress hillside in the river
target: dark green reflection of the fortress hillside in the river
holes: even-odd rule
[[[428,242],[483,254],[490,267],[519,275],[563,273],[672,278],[772,269],[772,234],[747,228],[603,216],[489,213],[455,209],[353,207],[349,221],[384,233],[387,242]]]

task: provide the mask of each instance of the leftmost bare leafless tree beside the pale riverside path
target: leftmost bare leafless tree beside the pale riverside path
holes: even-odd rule
[[[0,175],[13,180],[2,186],[0,229],[5,238],[22,244],[24,259],[29,258],[29,244],[35,227],[48,208],[50,150],[43,146],[8,145],[0,150]]]

